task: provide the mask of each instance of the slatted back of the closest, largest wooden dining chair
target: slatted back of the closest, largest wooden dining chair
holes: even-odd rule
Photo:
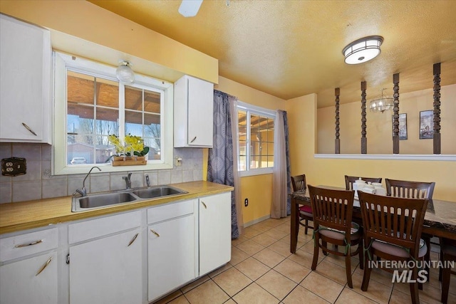
[[[394,243],[418,252],[428,199],[409,199],[358,192],[366,242]]]

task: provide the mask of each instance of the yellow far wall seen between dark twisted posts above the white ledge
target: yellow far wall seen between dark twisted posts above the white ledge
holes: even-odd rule
[[[456,154],[456,85],[441,88],[442,154]],[[432,140],[420,140],[420,111],[433,110],[432,89],[400,94],[399,112],[407,114],[408,139],[400,140],[400,154],[432,154]],[[368,105],[367,105],[368,106]],[[335,107],[318,109],[318,153],[334,153]],[[366,111],[368,154],[393,154],[392,111]],[[361,153],[361,101],[340,107],[341,153]]]

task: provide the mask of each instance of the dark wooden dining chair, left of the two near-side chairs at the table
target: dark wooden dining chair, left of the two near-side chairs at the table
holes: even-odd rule
[[[360,267],[363,261],[363,237],[358,224],[352,223],[353,190],[335,190],[309,185],[309,196],[314,211],[314,260],[311,269],[316,270],[320,248],[337,256],[345,256],[348,287],[353,288],[351,279],[351,257],[359,254]],[[320,242],[321,240],[321,242]],[[327,246],[336,245],[335,248]],[[358,245],[355,251],[351,246]],[[338,248],[344,248],[342,252]]]

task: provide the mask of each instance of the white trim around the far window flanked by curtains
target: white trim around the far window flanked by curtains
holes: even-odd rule
[[[274,110],[269,110],[269,109],[266,109],[266,108],[261,108],[257,105],[249,105],[248,103],[243,103],[242,101],[237,101],[237,110],[245,110],[247,112],[249,112],[250,114],[258,114],[258,115],[261,115],[261,116],[266,116],[266,117],[271,117],[272,120],[274,120],[274,127],[275,127],[275,123],[276,123],[276,111]],[[236,115],[237,115],[237,112],[236,112]],[[247,125],[249,125],[249,118],[250,116],[247,115]],[[239,133],[239,129],[238,129],[239,125],[237,126],[237,132]],[[247,132],[249,133],[249,132]],[[250,141],[250,136],[249,134],[247,134],[247,147],[246,149],[248,150],[248,152],[246,153],[248,155],[247,157],[247,163],[249,164],[249,160],[250,160],[250,145],[249,145],[249,141]],[[240,147],[239,147],[239,137],[237,137],[237,140],[238,140],[238,145],[237,145],[237,162],[238,164],[240,163]],[[276,139],[274,138],[274,145],[275,145],[275,142],[276,142]],[[262,175],[262,174],[272,174],[272,172],[274,171],[274,167],[267,167],[267,168],[257,168],[257,169],[250,169],[249,166],[247,166],[247,170],[244,170],[244,171],[241,171],[239,170],[238,168],[238,172],[239,172],[239,177],[252,177],[254,175]]]

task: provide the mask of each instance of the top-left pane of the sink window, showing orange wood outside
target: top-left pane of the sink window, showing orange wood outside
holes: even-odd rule
[[[93,88],[95,86],[95,79],[93,76],[68,70],[66,81],[68,105],[77,103],[93,105]]]

